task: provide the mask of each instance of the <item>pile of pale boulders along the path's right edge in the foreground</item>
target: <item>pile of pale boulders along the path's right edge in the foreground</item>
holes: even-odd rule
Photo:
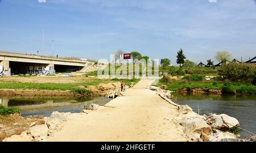
[[[200,116],[192,112],[188,105],[180,105],[177,110],[182,116],[178,124],[183,126],[183,131],[187,134],[189,141],[245,141],[239,135],[232,133],[232,129],[239,127],[236,118],[226,114],[210,114]]]

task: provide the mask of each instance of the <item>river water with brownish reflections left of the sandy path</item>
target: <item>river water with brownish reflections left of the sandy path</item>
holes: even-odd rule
[[[88,104],[106,104],[105,97],[0,97],[0,104],[5,107],[18,107],[22,116],[50,116],[53,111],[77,113]]]

